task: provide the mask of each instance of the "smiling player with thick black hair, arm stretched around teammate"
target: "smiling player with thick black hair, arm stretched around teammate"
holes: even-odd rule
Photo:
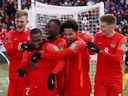
[[[43,53],[45,59],[65,59],[64,96],[90,96],[89,53],[85,42],[78,36],[77,23],[66,21],[61,32],[67,48],[54,54]]]

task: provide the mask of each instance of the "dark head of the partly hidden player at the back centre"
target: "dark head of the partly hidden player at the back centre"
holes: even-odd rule
[[[51,19],[48,24],[48,39],[55,39],[60,33],[60,21],[58,19]]]

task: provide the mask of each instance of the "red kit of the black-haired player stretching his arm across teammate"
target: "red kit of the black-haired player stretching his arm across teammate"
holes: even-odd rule
[[[65,59],[64,96],[90,96],[89,53],[83,40],[74,43],[76,50],[66,48],[55,54],[44,54],[44,58]]]

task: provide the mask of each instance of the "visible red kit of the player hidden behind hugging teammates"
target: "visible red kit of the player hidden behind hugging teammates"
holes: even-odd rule
[[[66,48],[66,41],[63,38],[57,38],[56,40],[50,42],[54,45],[56,45],[59,50],[63,50],[64,48]],[[58,66],[56,66],[56,68],[59,67],[60,71],[56,74],[57,77],[57,91],[58,94],[61,96],[63,94],[63,87],[64,87],[64,61],[62,60],[62,62],[60,62],[61,64],[58,64]],[[60,68],[61,67],[61,68]]]

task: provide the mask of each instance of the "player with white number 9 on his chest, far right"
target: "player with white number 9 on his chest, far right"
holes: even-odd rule
[[[101,32],[88,48],[98,53],[96,64],[95,96],[121,96],[123,84],[123,55],[126,38],[115,31],[116,18],[111,14],[100,18]]]

